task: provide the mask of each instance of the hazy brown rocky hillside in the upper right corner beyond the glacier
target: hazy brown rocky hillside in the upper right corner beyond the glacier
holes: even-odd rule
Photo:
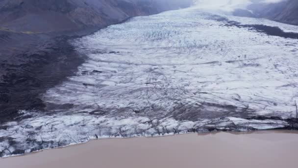
[[[248,6],[254,17],[298,25],[298,0],[283,0],[279,3],[254,3]]]

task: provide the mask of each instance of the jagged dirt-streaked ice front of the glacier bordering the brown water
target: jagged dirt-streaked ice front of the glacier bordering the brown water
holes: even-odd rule
[[[30,113],[26,114],[30,116]],[[166,135],[179,135],[179,134],[187,134],[187,133],[210,133],[213,131],[234,131],[234,132],[245,132],[245,131],[255,131],[255,130],[289,130],[289,123],[286,121],[278,121],[278,120],[247,120],[241,118],[227,117],[227,118],[218,118],[209,122],[209,124],[205,124],[203,126],[199,126],[197,122],[185,121],[178,122],[173,119],[169,120],[157,120],[152,121],[149,118],[123,118],[119,121],[124,122],[125,120],[134,121],[135,120],[142,121],[142,123],[147,123],[144,125],[144,129],[139,129],[138,132],[129,132],[129,130],[136,129],[139,124],[128,124],[127,127],[128,132],[125,130],[122,133],[113,133],[111,132],[111,128],[120,129],[122,125],[115,125],[113,119],[106,120],[105,118],[93,118],[91,116],[85,116],[84,122],[102,120],[107,122],[101,122],[99,125],[110,124],[110,127],[101,128],[99,125],[85,125],[84,129],[89,130],[88,133],[82,131],[82,127],[80,124],[75,124],[69,127],[67,130],[57,130],[55,122],[59,120],[72,121],[73,117],[81,117],[83,115],[70,115],[70,116],[57,116],[52,115],[46,118],[28,118],[25,119],[24,123],[18,123],[18,126],[12,126],[11,128],[7,126],[7,129],[3,128],[0,130],[0,134],[2,133],[3,137],[0,139],[2,145],[0,146],[2,151],[0,152],[0,157],[9,157],[9,156],[19,156],[27,153],[32,153],[35,151],[41,151],[43,149],[53,149],[59,148],[63,146],[69,146],[74,144],[85,143],[90,140],[96,139],[104,139],[104,138],[130,138],[130,137],[163,137]],[[60,118],[59,118],[60,117]],[[96,119],[96,120],[93,120]],[[115,118],[114,118],[115,119]],[[34,120],[47,120],[51,124],[44,125],[43,122],[38,123],[34,122]],[[75,122],[73,120],[72,122]],[[34,126],[28,123],[35,123]],[[158,125],[152,125],[154,123],[159,123]],[[13,123],[12,123],[13,124]],[[84,123],[82,123],[84,124]],[[178,124],[178,125],[176,125]],[[221,125],[224,124],[224,125]],[[175,126],[176,125],[176,126]],[[221,125],[221,126],[220,126]],[[59,126],[59,124],[58,124]],[[43,129],[39,129],[43,127]],[[150,128],[151,127],[151,128]],[[160,132],[159,128],[166,128],[162,132]],[[13,128],[13,129],[12,129]],[[54,128],[54,130],[52,130]],[[6,131],[4,131],[4,129]],[[14,133],[12,130],[23,130],[22,134]],[[49,130],[50,129],[50,130]],[[42,131],[43,130],[43,131]],[[47,131],[48,130],[48,131]],[[32,132],[33,131],[33,132]],[[41,132],[39,132],[41,131]],[[48,137],[45,135],[47,132]],[[16,137],[16,134],[18,137]],[[5,136],[6,135],[6,136]],[[28,138],[30,135],[32,138]],[[45,135],[45,136],[42,136]],[[40,136],[40,139],[38,138]],[[12,138],[14,137],[14,139]]]

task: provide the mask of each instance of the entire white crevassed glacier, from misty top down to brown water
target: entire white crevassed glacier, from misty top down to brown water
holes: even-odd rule
[[[191,7],[70,40],[86,61],[41,96],[46,112],[0,125],[0,157],[98,138],[298,128],[297,33]]]

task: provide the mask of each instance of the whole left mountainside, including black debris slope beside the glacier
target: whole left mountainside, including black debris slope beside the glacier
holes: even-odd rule
[[[192,0],[0,0],[0,123],[43,110],[40,96],[84,62],[68,43],[129,17]]]

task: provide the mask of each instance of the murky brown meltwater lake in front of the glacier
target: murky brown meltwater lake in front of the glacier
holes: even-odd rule
[[[237,158],[235,158],[235,162],[239,162],[237,165],[243,165],[244,168],[246,168],[246,166],[255,166],[253,164],[256,163],[260,163],[260,168],[277,168],[277,166],[280,167],[281,163],[284,166],[290,166],[294,163],[289,162],[289,157],[291,158],[291,156],[295,156],[290,156],[290,154],[291,152],[295,152],[296,149],[298,149],[298,145],[296,145],[297,142],[298,131],[284,130],[250,132],[217,131],[211,133],[189,133],[152,138],[107,138],[90,140],[86,143],[74,144],[55,149],[46,149],[22,156],[1,158],[0,165],[5,166],[6,168],[14,168],[14,163],[23,165],[23,168],[52,168],[54,166],[62,165],[66,168],[79,168],[79,166],[82,166],[82,164],[84,164],[86,167],[94,167],[96,165],[100,166],[101,164],[99,163],[104,162],[103,165],[105,168],[113,168],[121,166],[121,162],[124,162],[122,164],[123,168],[137,168],[143,164],[141,162],[142,158],[140,161],[138,159],[135,160],[134,157],[138,157],[138,153],[142,152],[142,155],[146,155],[145,160],[151,161],[152,159],[155,159],[155,164],[159,163],[164,165],[165,168],[168,167],[168,164],[171,165],[171,163],[168,161],[172,161],[173,165],[169,166],[171,168],[178,168],[177,166],[179,166],[179,164],[180,167],[183,164],[188,164],[188,166],[217,166],[216,162],[204,162],[204,160],[211,161],[213,159],[220,159],[220,165],[223,167],[233,167],[234,163],[233,161],[229,160],[230,157],[240,157],[244,159],[243,157],[248,156],[254,161],[248,162],[251,165],[246,165],[246,162],[241,159],[237,161]],[[201,144],[204,145],[202,146]],[[263,148],[266,150],[262,150]],[[159,149],[159,152],[155,151],[157,149]],[[240,151],[240,149],[243,150]],[[270,152],[270,150],[272,151]],[[239,153],[237,153],[238,151]],[[256,151],[258,151],[258,153],[256,153]],[[284,151],[287,153],[281,154],[280,158],[278,158],[279,160],[273,159]],[[186,156],[181,155],[179,152],[182,154],[185,152]],[[222,158],[217,158],[219,155],[218,152],[224,152],[226,155],[223,155]],[[261,155],[263,155],[263,152],[268,156],[263,156],[264,158],[258,158],[262,157]],[[124,153],[125,155],[123,155]],[[191,160],[196,158],[195,156],[197,155],[203,157],[198,158],[199,161],[203,162],[199,165],[198,162],[191,162]],[[178,160],[175,160],[177,156],[181,157],[179,163],[177,163]],[[129,158],[131,159],[131,162],[127,161]],[[114,162],[105,163],[105,160]],[[166,160],[168,161],[165,162]],[[271,163],[268,163],[269,160],[271,160]],[[70,161],[73,162],[71,163]],[[152,167],[154,162],[152,161],[152,163],[148,162],[147,164],[144,164],[145,168]]]

